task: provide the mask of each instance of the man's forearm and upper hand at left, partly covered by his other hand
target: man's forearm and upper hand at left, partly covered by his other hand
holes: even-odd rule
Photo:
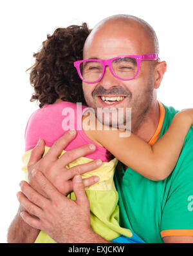
[[[76,133],[65,133],[53,144],[49,151],[50,153],[48,152],[44,157],[42,157],[42,154],[44,153],[43,140],[40,140],[37,146],[33,148],[30,155],[30,161],[28,162],[28,179],[30,185],[39,193],[43,194],[41,188],[32,177],[33,168],[41,170],[52,184],[55,185],[57,190],[67,195],[72,191],[71,179],[74,175],[95,170],[102,164],[100,161],[91,161],[87,164],[82,164],[81,166],[75,166],[70,170],[66,169],[65,166],[69,164],[69,162],[73,162],[75,159],[78,159],[78,157],[87,155],[95,150],[95,148],[90,148],[90,145],[84,145],[75,150],[70,150],[59,159],[58,157],[60,153],[68,143],[74,139],[75,135]],[[95,184],[98,181],[96,178],[96,176],[93,176],[85,179],[84,186],[91,186],[92,184]],[[17,214],[15,215],[14,221],[10,224],[7,236],[7,241],[9,243],[34,242],[39,234],[39,230],[32,228],[23,221],[20,215],[22,211],[23,208],[20,206]]]

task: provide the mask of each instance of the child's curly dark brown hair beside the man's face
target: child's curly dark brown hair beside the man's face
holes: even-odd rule
[[[47,35],[36,54],[30,70],[30,84],[34,93],[30,101],[39,101],[39,107],[62,101],[86,104],[80,80],[73,62],[82,59],[84,42],[91,30],[86,23],[57,28]],[[27,70],[27,71],[28,71]]]

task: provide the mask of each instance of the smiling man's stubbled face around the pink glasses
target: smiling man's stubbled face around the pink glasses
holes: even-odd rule
[[[116,23],[104,25],[95,32],[84,47],[84,59],[111,59],[122,55],[141,55],[152,52],[152,44],[140,26]],[[82,83],[84,97],[96,113],[97,108],[132,108],[132,128],[135,130],[149,109],[153,92],[152,61],[142,61],[136,78],[122,81],[106,66],[104,77],[95,84]],[[104,101],[105,97],[120,97],[119,101]],[[104,123],[104,120],[102,121]],[[125,123],[125,115],[124,120]],[[110,120],[110,125],[112,120]]]

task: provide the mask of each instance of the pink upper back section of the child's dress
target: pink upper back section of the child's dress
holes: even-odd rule
[[[32,113],[25,131],[25,151],[35,147],[39,139],[44,139],[46,146],[51,147],[69,129],[77,130],[77,136],[66,146],[65,150],[78,148],[84,144],[96,145],[95,152],[85,155],[91,159],[109,161],[109,152],[89,139],[82,130],[82,112],[86,106],[61,102],[47,104]]]

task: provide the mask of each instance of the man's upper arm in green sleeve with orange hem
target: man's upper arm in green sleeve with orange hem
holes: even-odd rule
[[[161,237],[169,243],[192,243],[193,130],[190,129],[176,168],[166,184],[161,212]]]

